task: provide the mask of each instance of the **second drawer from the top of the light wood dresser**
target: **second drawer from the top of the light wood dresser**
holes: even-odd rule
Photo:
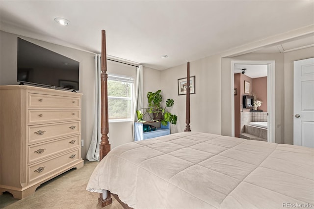
[[[79,120],[79,109],[29,109],[28,124]]]

